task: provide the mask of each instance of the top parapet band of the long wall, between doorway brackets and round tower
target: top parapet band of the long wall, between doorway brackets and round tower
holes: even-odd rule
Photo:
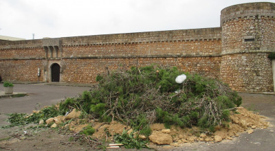
[[[195,42],[221,39],[221,28],[65,37],[63,46]]]

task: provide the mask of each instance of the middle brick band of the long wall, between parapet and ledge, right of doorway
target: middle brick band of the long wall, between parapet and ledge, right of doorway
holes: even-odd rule
[[[109,45],[64,46],[63,58],[133,58],[136,56],[219,56],[221,40],[192,40]]]

